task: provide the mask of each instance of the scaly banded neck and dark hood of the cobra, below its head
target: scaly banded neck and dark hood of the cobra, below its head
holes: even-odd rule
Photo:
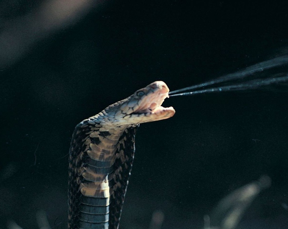
[[[68,182],[70,229],[114,229],[119,225],[121,209],[116,211],[117,220],[111,219],[109,205],[116,198],[115,191],[123,188],[119,181],[123,168],[119,165],[129,160],[132,165],[133,157],[128,158],[124,154],[125,134],[132,125],[113,126],[98,117],[99,114],[80,122],[71,140]],[[128,173],[130,175],[130,171]],[[127,184],[124,184],[125,187]],[[120,202],[123,201],[124,196]]]

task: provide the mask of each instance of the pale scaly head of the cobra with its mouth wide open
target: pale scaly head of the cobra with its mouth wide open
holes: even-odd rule
[[[110,124],[130,125],[167,119],[175,114],[173,107],[162,107],[169,88],[163,81],[155,81],[131,96],[107,107],[102,113]],[[105,120],[107,123],[107,120]]]

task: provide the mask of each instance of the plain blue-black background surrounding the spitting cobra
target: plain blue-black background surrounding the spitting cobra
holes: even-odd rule
[[[66,228],[66,154],[83,119],[156,80],[176,90],[287,54],[287,3],[110,1],[37,39],[21,17],[42,1],[1,4],[12,60],[0,55],[0,228],[37,228],[39,210]],[[18,38],[31,42],[10,55]],[[287,87],[166,99],[175,116],[137,132],[120,228],[148,228],[158,209],[163,228],[201,228],[221,198],[262,175],[272,185],[238,228],[287,228],[287,102]]]

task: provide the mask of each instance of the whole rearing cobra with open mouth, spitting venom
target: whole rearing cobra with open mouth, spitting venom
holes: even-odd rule
[[[68,168],[68,228],[118,229],[140,123],[172,117],[169,88],[155,81],[77,124]]]

